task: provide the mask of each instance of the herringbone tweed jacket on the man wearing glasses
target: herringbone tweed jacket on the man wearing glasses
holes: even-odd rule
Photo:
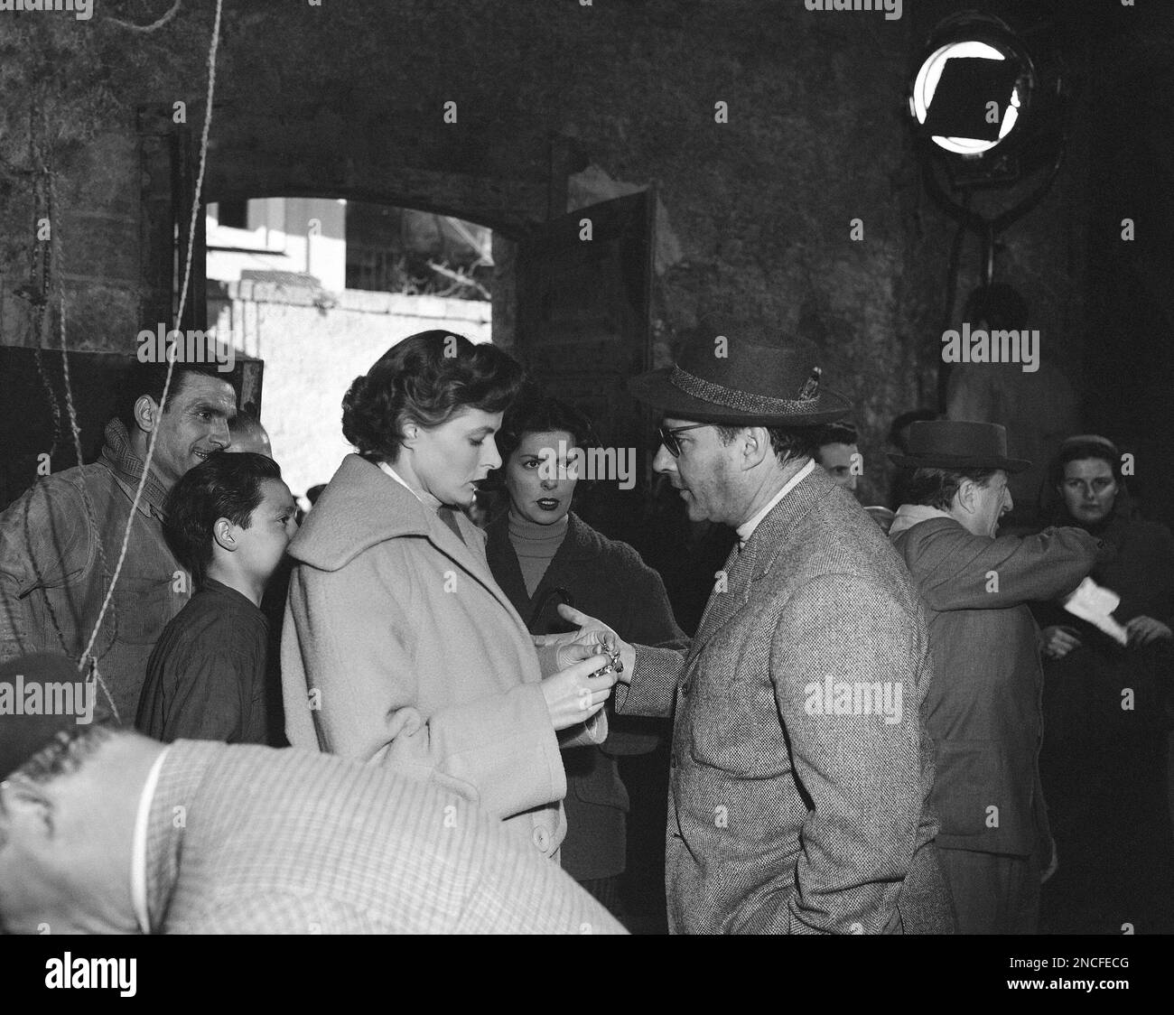
[[[951,929],[927,808],[929,637],[904,564],[816,469],[721,576],[688,648],[637,647],[616,685],[620,712],[675,712],[670,928]],[[888,716],[884,695],[900,703]]]

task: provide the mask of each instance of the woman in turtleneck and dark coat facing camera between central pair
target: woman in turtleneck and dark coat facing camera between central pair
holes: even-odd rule
[[[510,508],[486,530],[493,576],[534,635],[571,630],[556,609],[571,602],[627,642],[681,638],[660,576],[627,543],[606,539],[571,512],[574,449],[593,442],[591,421],[556,399],[524,397],[506,413],[498,444]],[[628,793],[615,759],[652,751],[657,739],[647,719],[609,716],[601,746],[562,752],[564,869],[621,920],[633,914],[620,896]]]

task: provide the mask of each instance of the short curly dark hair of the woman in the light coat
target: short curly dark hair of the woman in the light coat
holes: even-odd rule
[[[521,385],[521,365],[495,345],[421,331],[355,378],[343,399],[343,437],[369,460],[394,461],[405,424],[440,426],[463,408],[505,412]]]

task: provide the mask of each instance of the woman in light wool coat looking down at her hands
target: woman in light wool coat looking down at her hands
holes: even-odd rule
[[[521,380],[501,350],[444,331],[355,380],[343,434],[358,454],[290,544],[282,682],[295,747],[418,770],[556,858],[560,740],[606,737],[615,677],[591,676],[600,656],[542,679],[461,512],[500,463],[494,433]]]

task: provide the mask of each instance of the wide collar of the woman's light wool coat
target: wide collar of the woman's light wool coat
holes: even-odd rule
[[[416,539],[448,557],[508,609],[510,600],[485,561],[485,534],[463,513],[453,512],[453,517],[464,542],[411,490],[349,454],[294,536],[289,554],[318,570],[337,571],[379,543]]]

